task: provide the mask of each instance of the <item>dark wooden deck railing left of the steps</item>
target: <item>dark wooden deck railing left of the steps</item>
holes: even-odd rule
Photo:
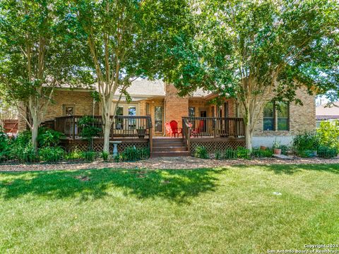
[[[67,138],[78,138],[81,136],[81,125],[79,120],[83,116],[61,116],[52,121],[46,121],[44,126],[54,127],[55,131],[64,133]],[[102,130],[102,117],[94,116],[93,126]],[[152,135],[152,121],[150,116],[115,116],[110,130],[111,138],[133,138],[138,136]],[[102,138],[103,133],[100,131],[97,138]]]

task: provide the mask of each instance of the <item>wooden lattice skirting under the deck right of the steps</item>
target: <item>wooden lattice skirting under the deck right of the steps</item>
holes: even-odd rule
[[[216,150],[224,151],[227,149],[236,150],[238,147],[245,147],[244,141],[209,141],[209,142],[191,142],[191,154],[194,154],[196,147],[204,146],[208,152],[213,153]]]

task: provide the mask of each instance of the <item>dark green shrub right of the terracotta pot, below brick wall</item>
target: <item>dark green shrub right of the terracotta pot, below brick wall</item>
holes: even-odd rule
[[[314,132],[305,132],[295,136],[293,138],[293,149],[297,154],[307,154],[304,151],[311,150],[316,151],[319,147],[319,138]]]

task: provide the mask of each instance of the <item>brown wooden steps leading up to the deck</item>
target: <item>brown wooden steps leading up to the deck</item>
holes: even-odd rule
[[[190,156],[184,138],[153,138],[151,157]]]

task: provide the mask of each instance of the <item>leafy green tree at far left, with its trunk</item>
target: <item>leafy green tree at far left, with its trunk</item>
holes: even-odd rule
[[[61,0],[0,1],[0,97],[28,109],[34,133],[58,83],[93,83],[68,6]]]

